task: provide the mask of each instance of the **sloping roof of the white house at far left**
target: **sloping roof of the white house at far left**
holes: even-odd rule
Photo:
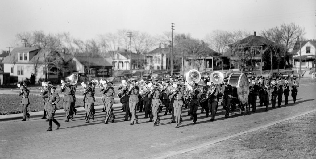
[[[12,63],[12,61],[16,61],[17,64],[25,64],[25,63],[30,64],[32,63],[33,56],[30,57],[31,59],[28,62],[18,61],[18,52],[34,52],[37,50],[38,49],[34,47],[16,47],[9,53],[7,57],[3,59],[2,63]]]

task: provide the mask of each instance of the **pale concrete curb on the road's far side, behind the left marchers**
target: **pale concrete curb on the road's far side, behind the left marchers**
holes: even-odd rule
[[[113,109],[114,108],[119,108],[119,107],[122,107],[121,103],[113,105]],[[84,107],[76,107],[76,109],[77,109],[77,114],[85,113]],[[94,109],[95,109],[96,112],[102,112],[103,105],[94,106]],[[42,118],[43,114],[44,114],[44,111],[28,112],[28,113],[30,114],[30,119]],[[64,109],[58,109],[55,112],[55,117],[60,117],[60,116],[65,116],[65,115],[66,115],[66,113],[65,113]],[[17,120],[17,119],[21,119],[22,120],[22,117],[23,117],[23,113],[0,115],[0,122],[1,121],[8,121],[8,120]]]

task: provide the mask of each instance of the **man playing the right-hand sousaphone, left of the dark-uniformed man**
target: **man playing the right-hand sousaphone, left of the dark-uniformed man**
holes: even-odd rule
[[[214,121],[215,119],[215,109],[217,106],[217,95],[219,94],[217,86],[213,83],[210,88],[207,90],[206,98],[208,99],[208,106],[211,112],[211,119],[210,121]]]

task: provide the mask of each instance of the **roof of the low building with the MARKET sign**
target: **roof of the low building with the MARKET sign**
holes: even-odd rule
[[[90,57],[90,56],[76,55],[75,58],[86,66],[90,65],[90,67],[98,67],[98,66],[112,67],[112,63],[110,63],[111,59],[103,58],[101,56]]]

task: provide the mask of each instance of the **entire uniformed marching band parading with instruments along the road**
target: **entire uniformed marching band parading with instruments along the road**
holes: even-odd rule
[[[247,77],[246,77],[247,78]],[[99,86],[102,94],[102,101],[105,109],[104,124],[108,123],[108,119],[112,119],[112,123],[115,120],[113,114],[113,104],[115,104],[114,96],[115,89],[113,82],[101,80],[88,81],[81,83],[83,89],[77,90],[76,75],[70,76],[69,79],[62,81],[60,93],[64,93],[63,107],[66,112],[65,122],[69,119],[72,120],[73,115],[76,115],[75,101],[76,93],[81,92],[83,95],[84,108],[86,111],[86,123],[94,120],[94,102],[95,102],[95,88]],[[211,74],[210,78],[202,78],[197,70],[190,70],[186,74],[186,81],[180,79],[180,77],[170,78],[165,81],[143,81],[143,80],[131,80],[122,81],[119,86],[118,97],[122,103],[122,110],[125,112],[124,121],[130,121],[130,125],[138,123],[138,116],[136,114],[137,107],[140,107],[140,111],[144,111],[144,118],[150,118],[149,122],[153,122],[154,126],[160,124],[159,113],[162,107],[166,107],[164,115],[172,113],[171,123],[175,123],[176,127],[180,127],[182,124],[182,109],[188,107],[188,115],[193,119],[193,124],[197,124],[197,110],[201,107],[201,113],[206,111],[206,117],[211,113],[210,121],[214,121],[218,108],[219,100],[222,99],[222,105],[225,109],[225,118],[229,117],[230,109],[234,109],[232,99],[234,98],[232,85],[228,84],[228,77],[224,78],[223,74],[219,71],[215,71]],[[291,91],[293,101],[296,101],[296,95],[298,92],[299,83],[296,78],[293,78],[293,82],[289,81],[289,78],[275,78],[268,77],[248,77],[249,82],[249,94],[248,102],[252,107],[252,112],[256,112],[257,97],[259,97],[260,106],[265,106],[265,110],[268,111],[269,100],[271,96],[272,108],[281,106],[282,97],[284,94],[285,105],[288,104],[288,96]],[[40,95],[43,98],[44,115],[42,119],[49,121],[49,129],[51,131],[52,122],[57,125],[59,129],[60,124],[54,119],[54,114],[57,109],[56,103],[61,99],[58,93],[55,92],[57,86],[53,86],[52,82],[42,83],[43,87],[40,88]],[[27,85],[23,84],[18,88],[21,89],[20,96],[22,95],[21,104],[23,106],[23,120],[29,119],[27,113],[27,107],[29,105],[28,94],[29,89]],[[291,90],[290,90],[291,88]],[[277,101],[276,101],[277,100]],[[142,105],[142,106],[140,106]],[[230,108],[232,106],[232,108]],[[48,114],[46,118],[46,112]],[[129,118],[128,118],[129,117]]]

